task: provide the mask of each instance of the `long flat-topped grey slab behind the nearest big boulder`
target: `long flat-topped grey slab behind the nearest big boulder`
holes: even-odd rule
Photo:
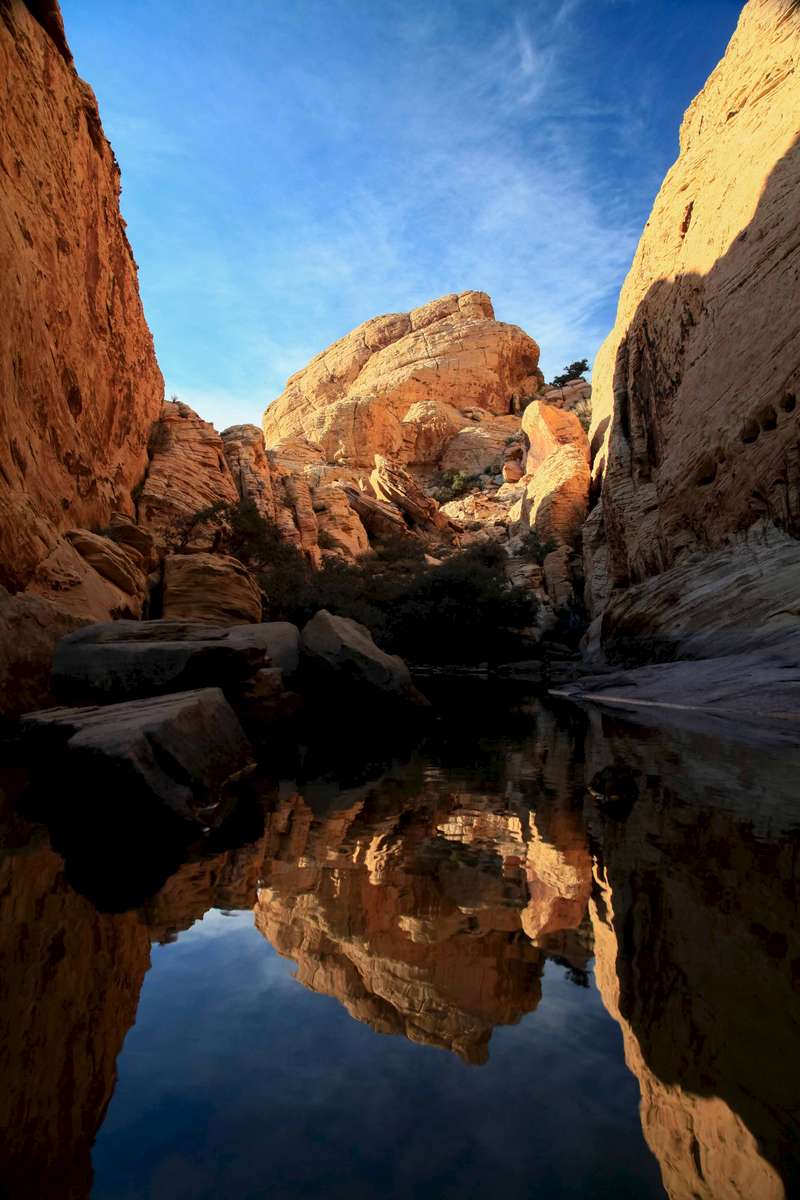
[[[287,622],[224,628],[197,620],[115,620],[64,637],[53,691],[70,704],[116,703],[197,688],[236,688],[267,665],[294,674],[300,634]]]

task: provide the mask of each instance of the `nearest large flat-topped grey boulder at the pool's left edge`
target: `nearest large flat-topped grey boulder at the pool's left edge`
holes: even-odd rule
[[[36,768],[59,768],[64,804],[152,800],[181,821],[216,823],[225,782],[253,762],[218,688],[88,708],[49,708],[22,720]],[[61,773],[61,766],[64,768]]]

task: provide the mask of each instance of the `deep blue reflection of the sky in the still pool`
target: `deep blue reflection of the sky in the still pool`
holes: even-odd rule
[[[548,965],[489,1062],[374,1033],[253,928],[154,947],[94,1152],[107,1200],[661,1196],[619,1030]]]

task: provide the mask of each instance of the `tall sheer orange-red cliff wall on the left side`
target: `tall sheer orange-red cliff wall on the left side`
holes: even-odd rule
[[[0,22],[0,583],[132,510],[163,383],[120,173],[55,0]]]

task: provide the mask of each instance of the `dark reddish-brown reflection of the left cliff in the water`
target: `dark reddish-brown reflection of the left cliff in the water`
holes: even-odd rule
[[[97,913],[42,848],[0,859],[0,960],[4,1194],[83,1200],[150,962],[148,931],[133,913]]]

